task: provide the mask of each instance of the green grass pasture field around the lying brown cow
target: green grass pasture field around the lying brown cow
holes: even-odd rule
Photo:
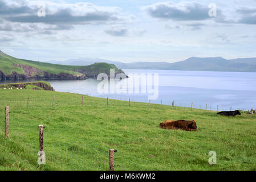
[[[52,98],[55,105],[52,107]],[[27,97],[29,108],[27,108]],[[0,170],[256,170],[256,115],[109,100],[44,90],[0,89]],[[5,106],[10,107],[9,140]],[[164,130],[167,119],[196,119],[199,132]],[[37,163],[44,125],[46,164]],[[210,151],[217,164],[210,165]]]

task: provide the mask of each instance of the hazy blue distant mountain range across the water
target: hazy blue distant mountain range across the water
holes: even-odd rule
[[[227,60],[223,57],[190,57],[175,63],[166,62],[133,62],[120,63],[104,59],[79,58],[66,61],[48,61],[52,64],[90,65],[93,63],[115,64],[121,69],[166,69],[182,71],[224,71],[224,72],[256,72],[256,57]]]

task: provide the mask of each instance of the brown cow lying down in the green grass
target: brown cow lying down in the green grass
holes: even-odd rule
[[[197,131],[197,123],[196,121],[185,121],[185,120],[177,120],[177,121],[164,121],[160,123],[160,127],[162,129],[181,129],[186,131]]]

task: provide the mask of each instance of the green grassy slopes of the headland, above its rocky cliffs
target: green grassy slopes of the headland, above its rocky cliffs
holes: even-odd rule
[[[47,73],[52,73],[56,75],[58,75],[58,73],[70,73],[74,76],[80,76],[82,75],[81,73],[83,73],[87,77],[91,77],[92,73],[94,76],[99,73],[109,74],[110,68],[115,69],[116,72],[123,72],[113,64],[96,63],[88,66],[50,64],[42,63],[39,61],[17,59],[15,57],[6,55],[5,53],[0,51],[0,71],[2,71],[5,75],[10,75],[13,71],[17,72],[18,74],[25,74],[23,69],[15,66],[15,64],[30,66],[33,68],[37,68],[40,71],[45,71]]]

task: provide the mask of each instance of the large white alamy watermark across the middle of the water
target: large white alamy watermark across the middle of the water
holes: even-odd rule
[[[100,73],[97,80],[97,92],[100,94],[148,94],[148,100],[156,100],[159,97],[158,73],[129,73],[128,79],[124,73],[115,75],[115,69],[110,69],[110,75]],[[153,84],[152,84],[153,82]]]

